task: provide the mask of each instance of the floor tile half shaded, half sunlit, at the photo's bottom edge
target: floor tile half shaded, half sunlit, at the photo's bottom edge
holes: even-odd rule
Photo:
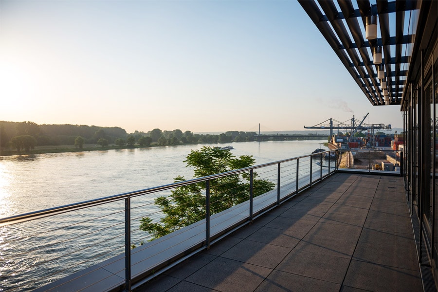
[[[272,269],[218,257],[186,281],[221,292],[252,292]]]

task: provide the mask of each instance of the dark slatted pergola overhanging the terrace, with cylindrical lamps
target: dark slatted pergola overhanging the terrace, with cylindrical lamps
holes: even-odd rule
[[[358,0],[355,8],[350,0],[339,0],[340,11],[331,0],[299,2],[370,103],[400,105],[415,36],[410,18],[418,13],[417,1]],[[365,29],[367,23],[377,28],[375,37]]]

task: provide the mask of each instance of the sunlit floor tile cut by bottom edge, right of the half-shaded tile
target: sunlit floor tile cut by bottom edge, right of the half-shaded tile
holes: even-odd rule
[[[257,287],[256,292],[338,292],[341,285],[301,275],[274,270]]]

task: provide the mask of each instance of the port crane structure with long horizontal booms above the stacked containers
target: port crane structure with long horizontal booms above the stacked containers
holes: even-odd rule
[[[384,125],[384,124],[365,124],[365,118],[368,116],[369,113],[366,113],[362,121],[357,120],[354,115],[353,118],[350,120],[347,120],[345,122],[339,122],[333,118],[329,118],[328,120],[325,120],[322,123],[319,123],[315,126],[307,127],[304,126],[306,129],[329,129],[330,130],[330,137],[333,136],[333,130],[349,130],[351,133],[351,136],[354,136],[358,131],[370,131],[371,132],[371,145],[375,146],[375,132],[378,132],[380,130],[386,129],[390,130],[391,125]],[[333,123],[334,122],[334,123]]]

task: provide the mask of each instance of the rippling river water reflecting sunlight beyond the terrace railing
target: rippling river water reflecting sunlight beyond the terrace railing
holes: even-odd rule
[[[321,146],[324,142],[265,141],[230,145],[234,146],[231,151],[235,156],[253,155],[256,164],[264,164],[310,154],[315,148],[324,148]],[[173,183],[179,175],[190,179],[193,169],[186,167],[183,161],[192,149],[202,146],[218,145],[0,157],[0,218]],[[153,197],[150,197],[137,201],[136,206],[141,214],[146,212],[153,217],[152,203]],[[96,261],[122,253],[123,236],[120,235],[124,226],[120,212],[123,206],[120,202],[104,206],[0,227],[0,291],[32,290],[83,269],[90,263],[74,264],[71,270],[52,274],[59,267],[78,262],[81,257],[95,255],[96,250],[112,248],[111,252],[95,256]],[[141,215],[137,216],[134,211],[131,218],[135,221]],[[82,223],[76,224],[77,220]],[[133,224],[138,229],[138,220]],[[57,230],[58,225],[64,227]],[[84,232],[92,235],[98,233],[97,229],[109,227],[112,233],[104,237],[78,235]],[[66,230],[70,236],[67,239]],[[74,252],[80,256],[74,256]]]

